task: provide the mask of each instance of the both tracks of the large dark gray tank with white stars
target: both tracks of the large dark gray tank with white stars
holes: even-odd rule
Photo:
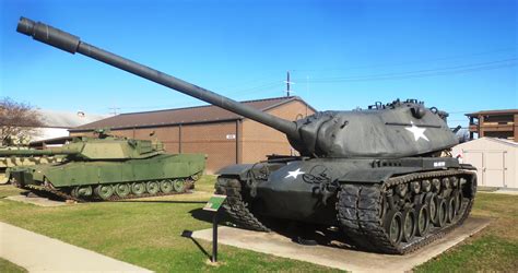
[[[443,237],[455,227],[461,225],[468,217],[473,205],[474,192],[471,198],[462,198],[459,213],[452,223],[442,228],[431,228],[424,237],[414,237],[410,242],[392,244],[382,223],[382,202],[384,194],[388,189],[402,183],[410,183],[419,179],[433,179],[451,176],[472,176],[467,170],[442,170],[427,171],[392,177],[382,185],[373,183],[348,183],[343,185],[338,192],[337,217],[338,222],[353,240],[353,244],[360,248],[392,254],[404,254],[428,245],[429,242]],[[470,179],[468,179],[470,181]],[[459,181],[460,185],[460,181]],[[474,191],[473,186],[468,186]],[[227,199],[223,205],[228,215],[244,228],[270,232],[250,211],[248,203],[242,195],[242,183],[236,178],[221,177],[215,185],[216,193],[226,194]]]

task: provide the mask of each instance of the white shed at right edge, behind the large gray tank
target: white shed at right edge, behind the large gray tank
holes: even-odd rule
[[[518,143],[481,138],[454,147],[454,156],[476,167],[479,186],[518,189]]]

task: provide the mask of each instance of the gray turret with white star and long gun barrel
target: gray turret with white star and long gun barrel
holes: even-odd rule
[[[425,108],[417,100],[376,104],[361,111],[317,112],[293,122],[99,49],[78,36],[43,23],[22,17],[16,31],[70,54],[79,52],[272,127],[285,133],[292,146],[302,155],[392,158],[425,155],[458,143],[443,112]]]

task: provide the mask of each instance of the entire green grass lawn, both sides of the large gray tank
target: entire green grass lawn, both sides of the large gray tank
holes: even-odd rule
[[[197,182],[197,193],[40,207],[2,199],[19,192],[0,186],[0,221],[157,272],[177,271],[332,271],[307,262],[220,246],[217,268],[184,229],[211,227],[201,210],[213,191],[213,176]],[[517,195],[480,193],[473,215],[494,218],[479,235],[419,266],[416,271],[516,271],[518,269]],[[211,250],[210,242],[199,241]],[[0,260],[0,269],[13,266]],[[11,268],[8,268],[11,270]],[[19,272],[12,268],[10,272]]]

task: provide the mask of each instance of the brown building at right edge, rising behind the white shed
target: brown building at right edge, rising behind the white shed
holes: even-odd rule
[[[470,139],[491,136],[518,142],[518,109],[466,114],[470,119]]]

